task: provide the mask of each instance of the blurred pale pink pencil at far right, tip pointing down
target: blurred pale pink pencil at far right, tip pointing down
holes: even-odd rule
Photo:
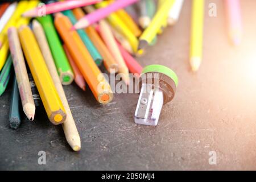
[[[225,0],[226,16],[229,23],[229,37],[235,46],[242,39],[242,18],[240,0]]]

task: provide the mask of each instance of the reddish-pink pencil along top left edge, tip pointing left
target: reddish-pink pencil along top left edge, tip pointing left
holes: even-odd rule
[[[24,17],[43,16],[47,14],[58,13],[60,11],[75,9],[77,7],[93,5],[98,2],[101,2],[101,0],[79,0],[79,1],[69,0],[69,1],[54,2],[46,6],[36,7],[35,9],[26,11],[25,13],[23,13],[23,16]]]

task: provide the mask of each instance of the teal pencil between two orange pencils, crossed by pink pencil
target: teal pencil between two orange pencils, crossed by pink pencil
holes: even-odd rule
[[[72,24],[75,24],[77,22],[77,19],[71,10],[66,10],[66,11],[63,11],[62,13],[65,16],[68,16],[68,18],[69,18],[69,20],[71,20]],[[86,34],[86,32],[84,30],[80,29],[80,30],[77,30],[77,33],[79,34],[82,42],[85,44],[86,48],[88,49],[94,62],[97,65],[100,65],[102,63],[103,59],[102,59],[100,53],[98,52],[98,50],[96,49],[96,47],[94,46],[94,44],[92,43],[92,41],[90,40],[90,38],[88,37],[88,35]]]

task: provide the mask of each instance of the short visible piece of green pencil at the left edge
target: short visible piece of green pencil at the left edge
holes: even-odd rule
[[[9,55],[0,73],[0,96],[2,96],[3,92],[5,92],[6,86],[10,80],[12,63],[13,60],[11,59],[11,55]]]

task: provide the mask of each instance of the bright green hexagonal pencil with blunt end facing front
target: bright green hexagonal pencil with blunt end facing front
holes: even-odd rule
[[[42,24],[44,31],[46,32],[46,37],[52,52],[56,69],[60,76],[61,84],[71,84],[74,80],[73,71],[71,65],[69,64],[67,56],[65,55],[59,36],[55,30],[52,16],[46,15],[38,17],[37,19]]]

